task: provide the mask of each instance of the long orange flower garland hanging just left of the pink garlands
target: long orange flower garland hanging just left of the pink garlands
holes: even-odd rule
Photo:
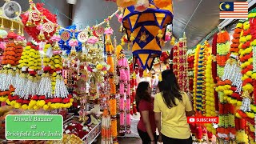
[[[110,37],[110,36],[106,36]],[[110,38],[106,38],[109,39]],[[116,85],[114,82],[114,59],[112,57],[114,46],[111,42],[106,42],[106,53],[107,53],[107,64],[110,65],[108,70],[109,82],[110,82],[110,116],[111,116],[111,137],[113,142],[117,143],[118,132],[117,132],[117,108],[116,108]]]

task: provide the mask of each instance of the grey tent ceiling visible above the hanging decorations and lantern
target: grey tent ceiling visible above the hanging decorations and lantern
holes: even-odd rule
[[[29,8],[27,0],[16,0],[22,6],[22,10]],[[173,0],[174,1],[174,26],[173,34],[176,38],[180,38],[183,32],[186,32],[188,40],[188,47],[193,48],[203,38],[206,37],[218,24],[219,20],[219,1],[217,0]],[[236,2],[245,2],[246,0],[235,0]],[[41,0],[34,0],[34,2],[41,2]],[[68,25],[68,18],[62,14],[69,14],[69,5],[65,0],[45,0],[46,8],[51,12],[58,9],[58,22],[62,26]],[[234,2],[234,0],[223,0],[221,2]],[[4,2],[0,2],[0,6]],[[49,6],[50,5],[50,6]],[[88,25],[93,26],[96,21],[100,22],[113,14],[117,10],[114,2],[106,2],[105,0],[78,0],[74,6],[74,24],[78,28],[83,28]],[[62,14],[60,14],[62,13]],[[114,29],[116,38],[122,37],[118,32],[120,24],[117,18],[114,18],[110,25]],[[170,45],[167,43],[163,50],[170,50]],[[130,52],[126,52],[130,54]]]

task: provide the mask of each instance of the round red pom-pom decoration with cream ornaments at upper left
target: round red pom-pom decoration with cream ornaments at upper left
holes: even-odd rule
[[[56,15],[45,9],[42,3],[30,2],[30,9],[21,17],[24,29],[36,42],[50,40],[57,28]]]

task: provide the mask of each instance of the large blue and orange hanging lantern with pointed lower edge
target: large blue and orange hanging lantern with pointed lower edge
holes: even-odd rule
[[[134,6],[127,7],[122,19],[127,38],[133,42],[134,61],[138,59],[143,70],[150,70],[154,59],[161,56],[166,26],[174,17],[172,5],[159,9],[153,1],[149,2],[150,6],[143,12],[138,12]]]

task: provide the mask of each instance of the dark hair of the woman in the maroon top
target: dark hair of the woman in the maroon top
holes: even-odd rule
[[[136,90],[136,106],[138,110],[138,104],[141,100],[145,100],[147,102],[150,102],[150,94],[147,92],[147,89],[149,88],[150,83],[149,82],[139,82],[138,87]]]

